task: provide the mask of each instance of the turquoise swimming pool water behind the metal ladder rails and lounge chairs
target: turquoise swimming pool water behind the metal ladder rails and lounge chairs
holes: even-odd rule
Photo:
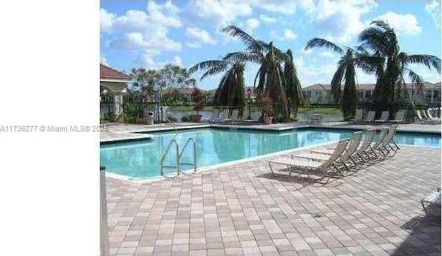
[[[354,131],[345,129],[292,129],[290,131],[257,131],[250,129],[191,129],[178,134],[175,131],[154,133],[151,140],[115,142],[100,147],[100,165],[106,171],[131,178],[153,178],[160,175],[160,160],[169,142],[175,138],[180,145],[188,138],[197,141],[198,167],[260,156],[267,153],[318,145],[349,138]],[[395,137],[399,145],[441,147],[441,136],[436,134],[410,134],[398,132]],[[174,165],[174,151],[166,157],[166,164]],[[182,162],[192,162],[193,151],[184,151]],[[191,171],[193,167],[182,165]],[[165,174],[175,169],[164,169]]]

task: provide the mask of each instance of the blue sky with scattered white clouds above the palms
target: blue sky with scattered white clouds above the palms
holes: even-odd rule
[[[189,0],[119,1],[100,3],[100,60],[116,70],[158,69],[166,63],[189,68],[200,61],[220,59],[244,50],[244,45],[221,32],[237,25],[262,41],[291,49],[302,87],[329,84],[340,56],[325,49],[303,50],[307,41],[322,37],[341,47],[359,45],[358,33],[374,19],[387,21],[398,34],[401,51],[441,56],[440,0]],[[411,66],[425,81],[441,81],[424,66]],[[258,66],[247,64],[246,85],[253,86]],[[200,81],[214,89],[220,77]],[[374,76],[357,72],[358,83]]]

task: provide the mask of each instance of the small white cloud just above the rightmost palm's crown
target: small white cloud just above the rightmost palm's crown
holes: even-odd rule
[[[396,32],[404,34],[420,34],[422,28],[419,27],[417,19],[413,14],[397,14],[396,12],[385,12],[381,16],[374,18],[386,21]]]

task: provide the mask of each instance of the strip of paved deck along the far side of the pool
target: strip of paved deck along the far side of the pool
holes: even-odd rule
[[[343,129],[379,129],[381,125],[351,125],[347,122],[328,122],[318,125],[305,125],[298,123],[280,123],[273,125],[263,124],[249,124],[249,125],[216,125],[208,123],[195,123],[195,122],[173,122],[161,125],[131,125],[122,123],[104,123],[104,126],[108,128],[108,131],[100,132],[100,142],[111,142],[118,140],[137,140],[140,138],[149,138],[149,134],[137,134],[140,131],[164,131],[174,129],[189,129],[189,128],[202,128],[202,127],[234,127],[244,129],[264,129],[273,131],[283,131],[292,129],[294,127],[336,127]],[[416,131],[416,132],[430,132],[441,133],[441,125],[423,125],[423,124],[406,124],[398,125],[398,131]]]

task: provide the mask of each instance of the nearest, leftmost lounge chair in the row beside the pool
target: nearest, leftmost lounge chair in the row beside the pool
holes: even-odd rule
[[[336,165],[336,160],[343,154],[347,145],[349,143],[349,139],[340,140],[338,145],[336,145],[336,149],[332,155],[329,155],[325,160],[318,158],[306,158],[306,157],[295,157],[298,158],[294,160],[293,158],[281,157],[276,158],[274,160],[269,161],[269,167],[271,170],[271,175],[275,175],[275,171],[287,171],[289,174],[291,173],[303,173],[307,174],[307,178],[310,178],[310,173],[316,173],[318,175],[327,175],[327,182],[331,177],[330,169],[333,167],[336,169],[337,173],[341,174],[340,169]],[[273,165],[272,165],[273,164]],[[274,169],[274,165],[285,165],[285,169],[276,170]]]

